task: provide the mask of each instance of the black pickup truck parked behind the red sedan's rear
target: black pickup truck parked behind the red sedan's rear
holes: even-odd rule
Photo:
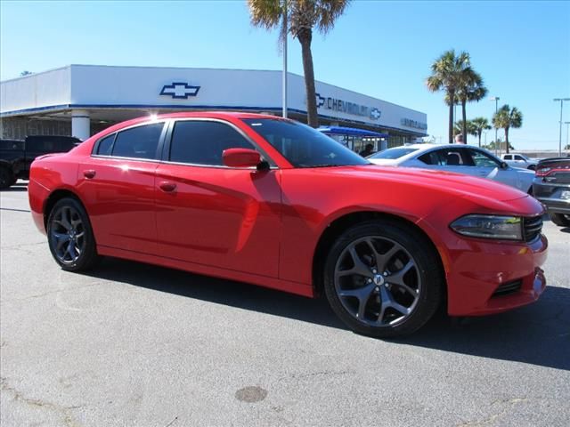
[[[21,140],[0,140],[0,189],[27,180],[29,165],[38,156],[67,152],[81,140],[72,136],[33,135]]]

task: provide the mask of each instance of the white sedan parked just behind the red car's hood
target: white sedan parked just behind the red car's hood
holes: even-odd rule
[[[485,149],[463,144],[412,144],[368,157],[376,165],[421,167],[478,176],[533,194],[533,171],[507,165]]]

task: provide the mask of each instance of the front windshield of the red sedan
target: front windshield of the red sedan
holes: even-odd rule
[[[295,167],[370,165],[354,151],[307,125],[273,118],[246,118],[243,122]]]

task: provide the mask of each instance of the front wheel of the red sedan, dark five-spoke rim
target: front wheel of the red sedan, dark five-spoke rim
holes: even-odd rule
[[[358,334],[389,338],[417,331],[443,298],[444,274],[431,247],[417,230],[393,220],[346,230],[325,262],[330,307]]]

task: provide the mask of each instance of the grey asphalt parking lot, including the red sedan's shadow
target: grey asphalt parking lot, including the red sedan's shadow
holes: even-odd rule
[[[323,300],[111,259],[63,272],[28,211],[23,184],[1,193],[3,427],[570,420],[570,229],[545,222],[539,302],[381,341]]]

